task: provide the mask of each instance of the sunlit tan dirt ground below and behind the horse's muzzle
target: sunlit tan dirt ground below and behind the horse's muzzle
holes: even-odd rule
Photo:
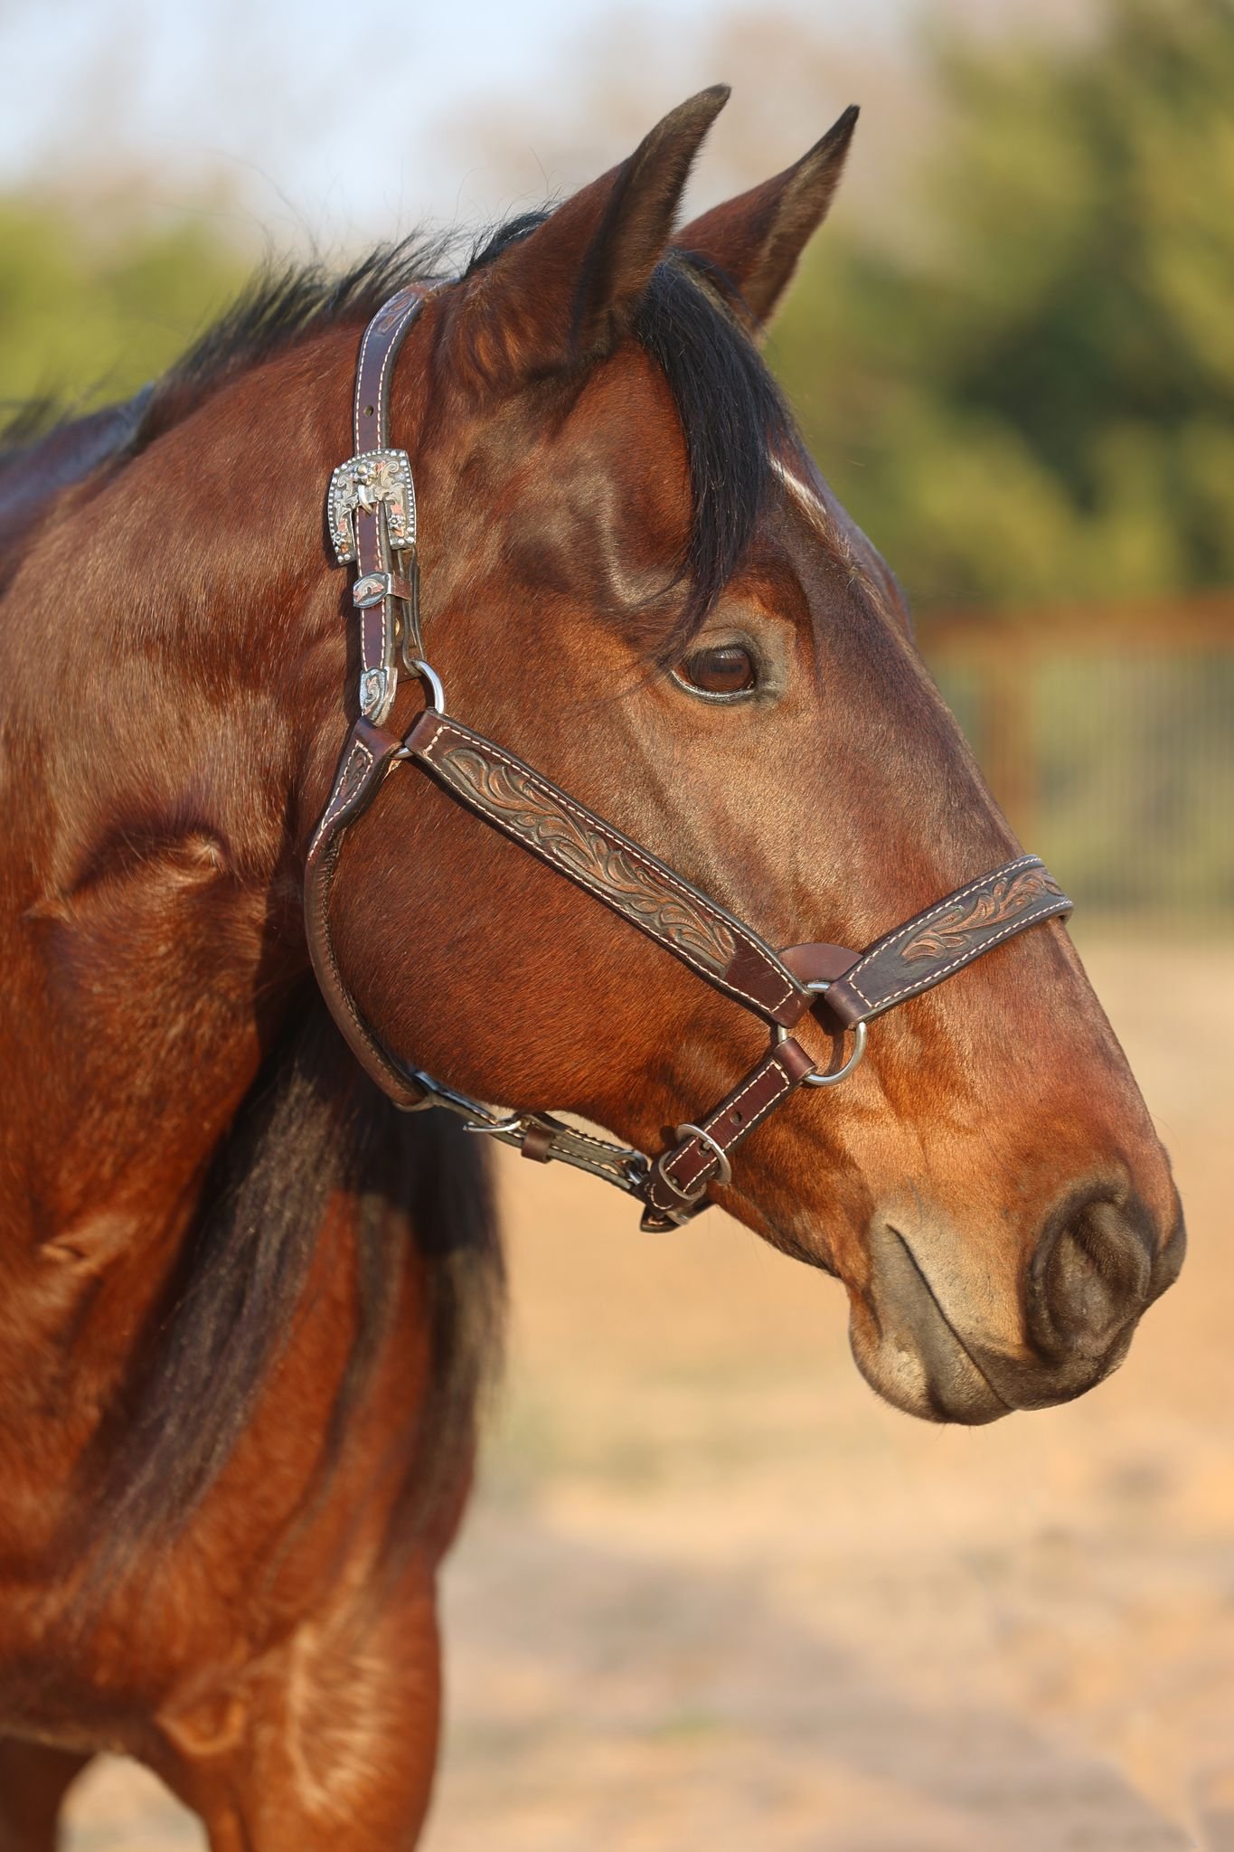
[[[1160,946],[1086,946],[1191,1252],[1069,1408],[912,1422],[834,1282],[511,1161],[426,1852],[1234,1852],[1234,946],[1173,950],[1166,1019]],[[124,1765],[72,1798],[70,1852],[200,1843]]]

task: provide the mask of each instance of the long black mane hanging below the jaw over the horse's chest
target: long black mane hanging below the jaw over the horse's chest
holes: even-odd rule
[[[372,1385],[411,1243],[424,1261],[429,1369],[407,1413],[389,1545],[409,1545],[457,1495],[501,1354],[505,1270],[487,1152],[450,1113],[400,1113],[309,993],[215,1150],[142,1369],[100,1433],[105,1522],[87,1593],[172,1543],[226,1469],[327,1232],[339,1239],[339,1198],[352,1206],[355,1335],[315,1496]]]

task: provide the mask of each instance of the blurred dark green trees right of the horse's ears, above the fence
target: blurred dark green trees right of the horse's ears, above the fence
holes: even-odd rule
[[[1228,583],[1232,0],[936,63],[921,248],[823,233],[777,324],[836,491],[923,606]]]

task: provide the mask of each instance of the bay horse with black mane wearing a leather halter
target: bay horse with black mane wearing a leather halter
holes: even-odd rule
[[[1177,1274],[1067,902],[759,356],[855,111],[675,232],[725,96],[461,274],[266,280],[0,461],[4,1852],[100,1750],[215,1852],[416,1841],[500,1343],[485,1126],[838,1276],[932,1420],[1080,1395]],[[392,296],[387,480],[348,411]],[[747,1078],[690,1120],[751,1063],[773,1115]]]

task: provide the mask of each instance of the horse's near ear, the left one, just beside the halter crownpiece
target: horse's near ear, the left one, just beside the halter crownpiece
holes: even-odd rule
[[[727,100],[727,83],[716,83],[672,109],[627,161],[464,283],[459,333],[485,385],[555,372],[618,341],[668,248],[694,156]]]

